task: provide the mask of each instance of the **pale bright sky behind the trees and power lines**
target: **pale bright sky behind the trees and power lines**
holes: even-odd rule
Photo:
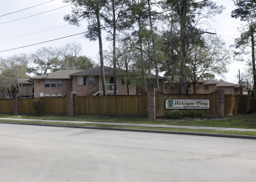
[[[50,2],[49,2],[50,1]],[[213,0],[214,1],[214,0]],[[48,2],[48,3],[46,3]],[[231,18],[231,11],[236,8],[232,0],[215,0],[217,5],[223,5],[226,7],[222,14],[217,14],[212,18],[213,21],[207,20],[211,24],[211,29],[208,31],[215,32],[221,35],[227,47],[232,45],[233,38],[238,36],[237,27],[241,26],[239,19]],[[45,3],[45,4],[42,4]],[[42,4],[40,6],[36,6]],[[74,34],[79,34],[85,32],[87,29],[87,22],[82,21],[80,27],[74,25],[68,25],[68,22],[63,20],[63,17],[71,13],[71,6],[69,4],[63,3],[62,0],[8,0],[2,1],[0,6],[0,57],[12,56],[14,54],[20,53],[33,53],[38,48],[41,47],[59,47],[67,44],[68,42],[79,42],[83,47],[83,55],[87,57],[97,57],[99,52],[98,41],[89,41],[82,37],[82,34],[70,36]],[[29,8],[36,6],[33,8]],[[63,7],[67,6],[67,7]],[[61,8],[63,7],[63,8]],[[23,11],[19,11],[25,8],[29,8]],[[59,8],[59,9],[57,9]],[[53,10],[56,9],[56,10]],[[53,10],[53,11],[49,11]],[[9,14],[15,11],[19,11],[13,14]],[[49,11],[43,14],[42,12]],[[9,15],[6,15],[9,14]],[[40,14],[40,15],[36,15]],[[5,16],[3,16],[5,15]],[[32,16],[36,15],[36,16]],[[24,18],[32,16],[29,18]],[[24,18],[24,19],[21,19]],[[20,20],[17,20],[20,19]],[[16,20],[16,21],[13,21]],[[11,22],[9,22],[11,21]],[[62,26],[65,25],[65,26]],[[61,27],[59,27],[61,26]],[[59,28],[55,28],[59,27]],[[51,29],[55,28],[55,29]],[[51,29],[51,30],[47,30]],[[42,31],[47,30],[47,31]],[[42,31],[42,32],[39,32]],[[38,33],[34,33],[38,32]],[[30,34],[33,33],[33,34]],[[29,35],[25,35],[29,34]],[[25,35],[25,36],[20,36]],[[17,37],[19,36],[19,37]],[[70,37],[66,37],[70,36]],[[106,41],[104,37],[106,33],[103,32],[103,49],[108,49],[110,42]],[[12,38],[16,37],[16,38]],[[66,38],[61,38],[66,37]],[[58,39],[51,42],[46,42],[54,39]],[[5,39],[5,40],[4,40]],[[37,44],[41,42],[46,42],[42,44]],[[33,46],[28,46],[32,44],[37,44]],[[18,47],[28,46],[24,48],[14,49]],[[14,49],[14,50],[9,50]],[[8,51],[5,51],[8,50]],[[1,52],[3,51],[3,52]],[[237,83],[238,69],[240,73],[245,72],[246,66],[245,62],[232,61],[228,67],[228,73],[222,75],[225,77],[225,81],[231,83]],[[163,74],[163,73],[162,73]],[[221,79],[221,76],[216,75],[216,79]]]

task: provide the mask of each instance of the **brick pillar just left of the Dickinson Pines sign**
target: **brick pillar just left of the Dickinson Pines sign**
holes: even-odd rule
[[[156,88],[147,89],[147,118],[156,119]]]

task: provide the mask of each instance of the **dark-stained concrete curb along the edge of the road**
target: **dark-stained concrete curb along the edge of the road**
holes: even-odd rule
[[[41,124],[41,123],[16,123],[16,122],[5,122],[5,121],[0,121],[0,123],[36,125],[36,126],[54,126],[54,127],[67,127],[67,128],[84,128],[84,129],[104,129],[104,130],[130,131],[130,132],[164,133],[164,134],[177,134],[177,135],[194,135],[194,136],[212,136],[212,137],[226,137],[226,138],[256,139],[256,136],[251,136],[251,135],[232,135],[232,134],[220,134],[220,133],[179,132],[179,131],[165,131],[165,130],[155,130],[155,129],[110,128],[110,127],[76,126],[76,125],[61,125],[61,124]]]

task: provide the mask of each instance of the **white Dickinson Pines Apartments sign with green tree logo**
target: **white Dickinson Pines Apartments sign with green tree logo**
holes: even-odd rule
[[[210,109],[210,99],[165,99],[165,109]]]

